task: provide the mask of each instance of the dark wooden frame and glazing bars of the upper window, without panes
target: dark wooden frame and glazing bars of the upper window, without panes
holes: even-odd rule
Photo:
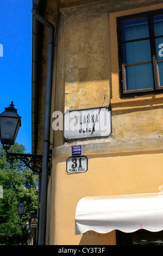
[[[154,35],[154,22],[153,22],[153,16],[159,15],[159,14],[163,14],[163,9],[154,10],[154,11],[146,11],[144,13],[131,14],[131,15],[127,15],[127,16],[117,17],[118,63],[119,63],[119,80],[120,80],[121,97],[129,97],[129,96],[132,97],[132,96],[136,96],[136,95],[139,96],[139,95],[145,95],[145,94],[163,93],[163,87],[160,87],[160,83],[159,83],[159,72],[158,72],[158,63],[163,62],[163,59],[157,60],[157,55],[156,55],[157,53],[156,53],[156,47],[155,47],[155,39],[161,38],[161,37],[163,38],[163,35],[159,35],[159,36]],[[123,21],[139,19],[142,17],[148,17],[149,37],[124,41],[123,40]],[[150,62],[141,62],[141,63],[136,63],[136,64],[138,65],[138,64],[152,63],[154,88],[127,90],[125,66],[134,65],[134,63],[133,64],[124,64],[124,44],[126,42],[140,41],[140,40],[146,40],[146,39],[148,39],[150,41],[151,61]]]

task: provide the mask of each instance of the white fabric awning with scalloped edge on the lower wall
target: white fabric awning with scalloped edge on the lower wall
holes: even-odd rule
[[[75,216],[76,235],[93,230],[125,233],[138,229],[163,230],[163,195],[161,193],[124,196],[85,197],[79,200]]]

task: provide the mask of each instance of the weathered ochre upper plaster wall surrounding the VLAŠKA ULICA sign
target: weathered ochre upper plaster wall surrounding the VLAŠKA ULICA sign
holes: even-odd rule
[[[162,137],[162,94],[120,99],[116,17],[163,7],[162,4],[149,3],[143,7],[147,5],[146,1],[140,2],[141,8],[136,8],[138,4],[132,1],[128,7],[125,1],[124,4],[114,1],[114,6],[112,2],[100,1],[60,9],[55,59],[57,71],[53,81],[55,107],[52,111],[65,113],[67,109],[109,106],[112,110],[112,133],[110,137],[99,140],[113,143],[114,138],[117,144],[117,140],[123,139],[124,147],[125,142],[133,138],[148,137],[151,141]],[[128,10],[129,7],[132,9]],[[113,12],[124,8],[127,10]],[[51,133],[54,148],[67,144],[62,130],[54,132],[52,129]],[[81,143],[88,142],[84,140]]]

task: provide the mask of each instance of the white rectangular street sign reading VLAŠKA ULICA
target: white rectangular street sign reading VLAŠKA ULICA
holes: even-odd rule
[[[111,111],[108,107],[79,109],[64,114],[65,139],[106,137],[111,134]]]

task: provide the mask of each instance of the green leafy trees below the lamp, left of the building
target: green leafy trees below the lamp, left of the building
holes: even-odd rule
[[[24,153],[25,147],[15,143],[9,152]],[[20,160],[8,163],[5,150],[0,145],[0,244],[26,244],[28,215],[37,209],[37,175],[24,166]],[[18,216],[17,205],[25,205],[24,215]]]

